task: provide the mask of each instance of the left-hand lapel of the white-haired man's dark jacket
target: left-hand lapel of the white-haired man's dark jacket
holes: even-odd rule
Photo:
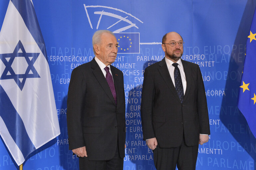
[[[109,84],[108,84],[104,74],[102,73],[102,70],[101,70],[100,66],[95,61],[95,59],[93,59],[91,61],[91,68],[93,69],[93,74],[95,75],[96,79],[98,80],[98,82],[102,86],[103,90],[106,92],[106,94],[108,95],[110,100],[116,105],[115,99],[114,99],[114,97],[111,93],[111,90],[109,88]]]

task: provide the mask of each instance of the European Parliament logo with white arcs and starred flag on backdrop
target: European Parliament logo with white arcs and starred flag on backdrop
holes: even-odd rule
[[[121,32],[133,27],[138,29],[136,23],[143,23],[142,21],[118,8],[101,5],[87,6],[85,4],[84,8],[91,29],[114,30],[113,33],[115,33],[118,41],[118,53],[139,53],[139,33]],[[100,17],[97,17],[97,15]],[[97,26],[95,26],[96,24]]]

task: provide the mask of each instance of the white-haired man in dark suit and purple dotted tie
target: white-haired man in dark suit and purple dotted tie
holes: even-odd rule
[[[69,149],[82,170],[121,170],[125,156],[123,73],[111,64],[118,43],[114,34],[93,36],[95,57],[71,74],[67,101]]]

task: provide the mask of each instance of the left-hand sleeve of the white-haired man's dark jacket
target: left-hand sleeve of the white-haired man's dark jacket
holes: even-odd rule
[[[85,146],[82,127],[85,92],[86,83],[83,74],[75,68],[71,73],[67,100],[69,149]]]

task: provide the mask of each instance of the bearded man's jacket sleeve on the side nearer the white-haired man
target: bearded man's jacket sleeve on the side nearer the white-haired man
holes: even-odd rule
[[[152,107],[154,100],[154,83],[149,70],[144,72],[144,81],[141,95],[141,123],[143,130],[143,140],[155,137],[152,125]]]

